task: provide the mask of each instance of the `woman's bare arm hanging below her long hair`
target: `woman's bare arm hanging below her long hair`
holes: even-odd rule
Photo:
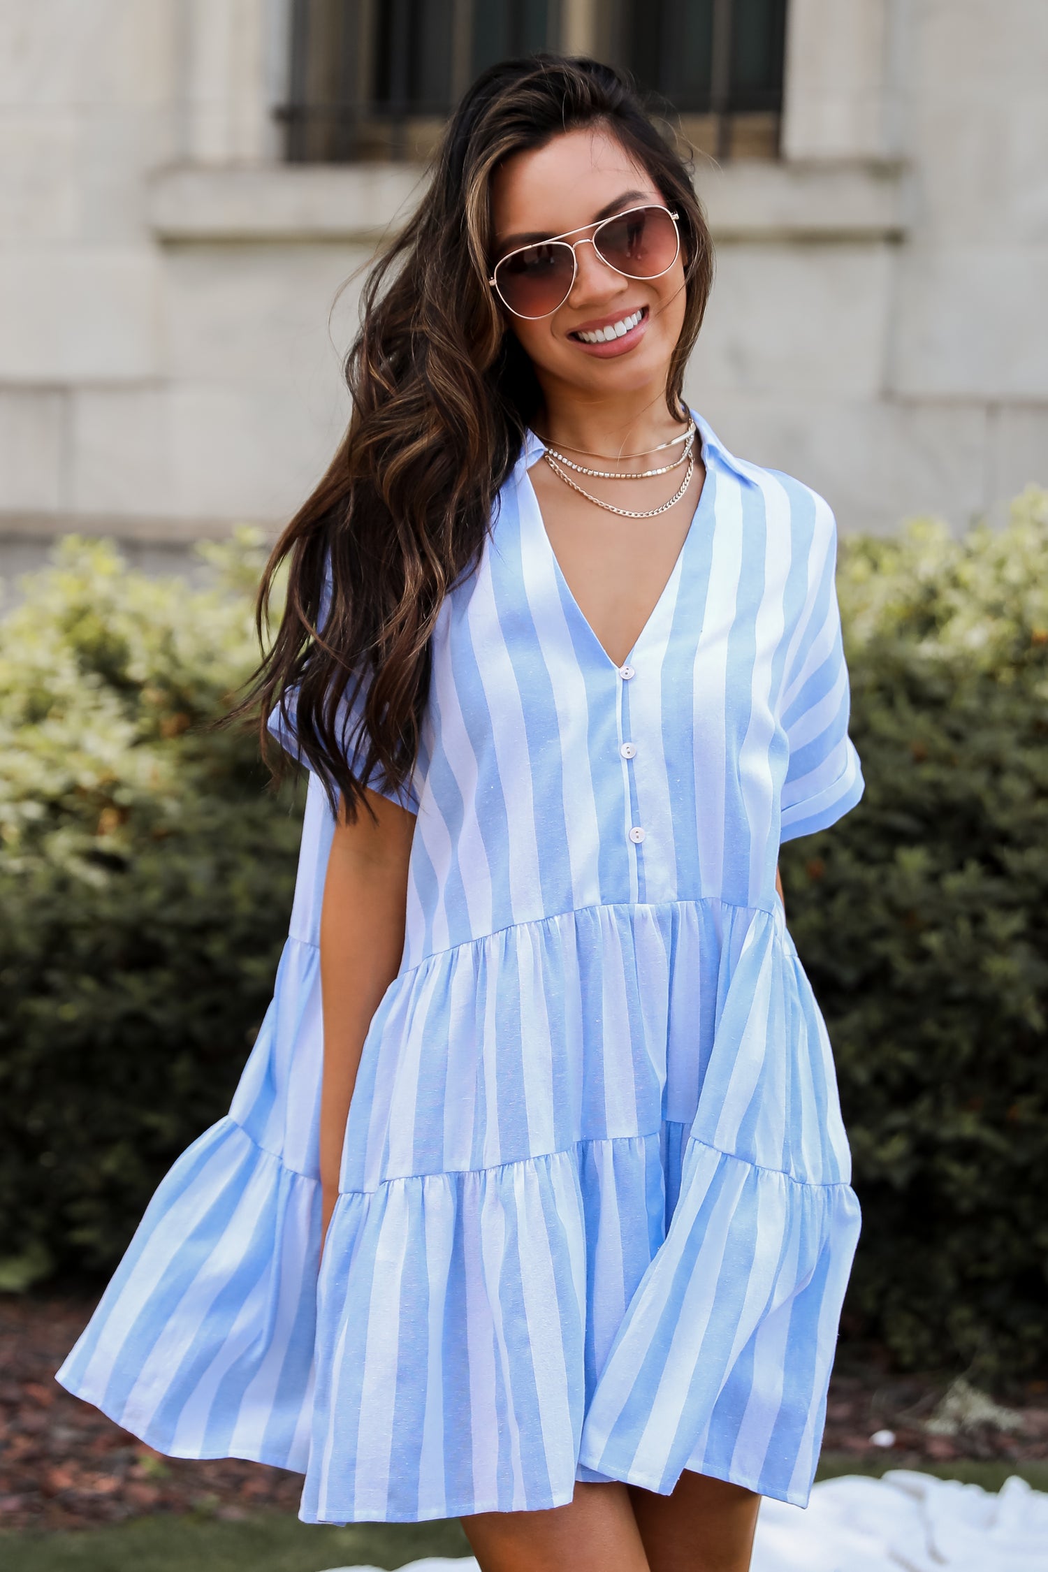
[[[321,1093],[322,1229],[338,1196],[346,1119],[360,1052],[382,995],[401,965],[407,861],[415,814],[368,792],[376,817],[339,814],[321,912],[321,997],[324,1001],[324,1083]]]

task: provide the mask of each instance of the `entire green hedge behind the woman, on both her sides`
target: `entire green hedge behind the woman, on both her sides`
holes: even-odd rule
[[[286,932],[302,791],[214,729],[259,544],[214,586],[66,541],[0,624],[0,1286],[113,1265],[228,1105]],[[867,788],[789,843],[864,1232],[845,1336],[1048,1368],[1048,494],[845,538]]]

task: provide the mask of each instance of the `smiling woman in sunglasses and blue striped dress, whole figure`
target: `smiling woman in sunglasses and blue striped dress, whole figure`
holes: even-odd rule
[[[746,1567],[858,1234],[776,865],[863,789],[834,525],[680,402],[710,275],[614,71],[471,88],[266,575],[277,997],[61,1372],[303,1470],[308,1522],[462,1515],[486,1572]]]

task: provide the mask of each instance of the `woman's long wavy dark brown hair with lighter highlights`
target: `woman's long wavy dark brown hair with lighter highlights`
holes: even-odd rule
[[[498,489],[539,409],[531,362],[487,285],[492,176],[512,154],[595,123],[679,214],[685,319],[666,382],[666,406],[679,413],[712,285],[687,162],[611,66],[559,55],[493,66],[459,104],[418,209],[366,280],[346,360],[349,431],[259,588],[262,637],[288,563],[283,619],[237,714],[259,712],[278,775],[283,755],[266,731],[277,711],[349,819],[374,773],[398,788],[413,769],[440,605],[476,566]]]

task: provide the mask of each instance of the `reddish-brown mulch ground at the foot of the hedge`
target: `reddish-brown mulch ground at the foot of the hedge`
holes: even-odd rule
[[[0,1297],[0,1528],[86,1528],[154,1512],[242,1519],[262,1508],[297,1511],[300,1475],[234,1460],[162,1457],[71,1398],[53,1374],[91,1313],[82,1298]],[[957,1459],[1048,1459],[1048,1382],[1009,1391],[1023,1427],[979,1426],[929,1435],[924,1420],[947,1377],[897,1376],[878,1350],[844,1344],[830,1390],[825,1449],[883,1462],[870,1443],[892,1431],[894,1467]]]

